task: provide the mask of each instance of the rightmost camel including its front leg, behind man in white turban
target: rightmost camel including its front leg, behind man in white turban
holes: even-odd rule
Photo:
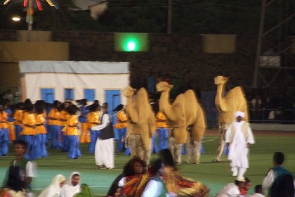
[[[219,162],[225,145],[225,132],[230,123],[235,120],[234,113],[242,111],[245,114],[244,120],[248,122],[248,106],[247,98],[244,96],[242,87],[235,87],[228,91],[228,94],[223,97],[225,84],[228,82],[228,77],[217,76],[214,78],[214,83],[217,85],[215,105],[218,110],[218,125],[219,125],[219,141],[216,151],[215,162]]]

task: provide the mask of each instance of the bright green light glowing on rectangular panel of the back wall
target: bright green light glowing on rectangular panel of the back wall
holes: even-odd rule
[[[147,33],[114,33],[114,51],[149,51]]]

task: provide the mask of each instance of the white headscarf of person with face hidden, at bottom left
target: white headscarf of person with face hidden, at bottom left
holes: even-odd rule
[[[65,176],[63,174],[56,175],[53,177],[51,184],[47,186],[38,197],[60,196],[60,182],[63,181],[65,181]]]

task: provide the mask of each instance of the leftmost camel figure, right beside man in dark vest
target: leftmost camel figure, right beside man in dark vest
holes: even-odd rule
[[[126,114],[129,117],[129,124],[127,127],[127,134],[140,134],[141,142],[140,147],[144,146],[144,152],[140,153],[137,149],[134,150],[131,146],[131,156],[138,156],[145,160],[146,163],[150,162],[150,148],[152,135],[155,132],[155,113],[152,111],[152,106],[148,101],[147,91],[140,88],[133,101],[133,94],[136,89],[128,86],[123,89],[122,93],[127,98]]]

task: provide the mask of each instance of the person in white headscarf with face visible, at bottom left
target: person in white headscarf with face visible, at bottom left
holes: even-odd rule
[[[65,185],[60,189],[61,197],[72,197],[74,194],[79,193],[81,182],[81,174],[79,172],[72,172],[67,178]]]

